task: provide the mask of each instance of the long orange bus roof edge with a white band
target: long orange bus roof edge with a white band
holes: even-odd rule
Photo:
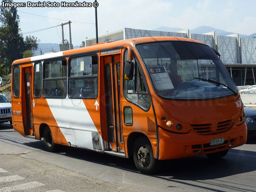
[[[60,52],[53,52],[53,53],[48,53],[44,55],[38,55],[34,57],[29,57],[25,59],[19,59],[13,61],[12,65],[14,64],[19,64],[19,63],[28,63],[28,62],[34,62],[34,61],[42,61],[42,60],[48,60],[48,59],[54,59],[58,57],[66,57],[74,54],[83,54],[83,53],[90,53],[90,52],[99,52],[99,51],[104,51],[104,50],[109,50],[109,49],[118,49],[118,48],[123,48],[124,45],[130,45],[133,46],[134,44],[137,43],[143,43],[143,42],[152,42],[152,41],[189,41],[189,42],[196,42],[196,43],[201,43],[204,44],[200,41],[196,41],[193,39],[188,39],[188,38],[182,38],[182,37],[139,37],[139,38],[132,38],[132,39],[125,39],[125,40],[120,40],[120,41],[113,41],[113,42],[105,42],[105,43],[99,43],[99,44],[94,44],[89,47],[82,47],[82,48],[77,48],[77,49],[72,49],[72,50],[67,50],[67,51],[60,51]]]

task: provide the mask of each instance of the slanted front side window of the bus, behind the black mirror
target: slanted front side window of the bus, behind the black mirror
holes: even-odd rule
[[[126,61],[126,58],[127,51],[124,54],[124,61]],[[150,102],[148,92],[144,84],[145,81],[137,66],[135,56],[133,57],[132,62],[134,63],[133,79],[124,79],[124,96],[128,101],[139,105],[144,110],[147,110],[150,107]]]

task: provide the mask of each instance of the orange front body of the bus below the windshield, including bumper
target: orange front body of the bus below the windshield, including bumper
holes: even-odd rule
[[[152,95],[159,132],[159,156],[158,159],[174,159],[196,155],[203,155],[229,148],[241,146],[246,142],[247,127],[244,121],[236,125],[236,118],[243,116],[242,106],[237,107],[236,102],[241,101],[239,95],[216,100],[202,101],[175,101],[163,100],[156,94]],[[166,117],[163,121],[162,117]],[[172,126],[167,127],[166,122],[172,121]],[[213,134],[197,134],[191,124],[215,124],[230,120],[228,130]],[[182,129],[176,130],[176,125],[181,122]],[[192,146],[204,146],[210,144],[211,139],[224,138],[225,142],[232,143],[225,148],[217,150],[192,150]],[[214,146],[212,147],[214,148]]]

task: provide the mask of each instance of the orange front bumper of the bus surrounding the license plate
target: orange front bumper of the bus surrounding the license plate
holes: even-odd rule
[[[186,134],[159,130],[159,160],[175,159],[214,153],[243,145],[247,139],[247,127],[245,122],[239,126],[233,126],[225,132],[199,135],[190,130]],[[224,143],[210,145],[212,139],[224,138]]]

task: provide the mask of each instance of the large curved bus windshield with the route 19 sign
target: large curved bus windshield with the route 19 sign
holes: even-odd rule
[[[236,85],[212,49],[186,41],[137,44],[156,93],[165,99],[211,99],[237,94]]]

